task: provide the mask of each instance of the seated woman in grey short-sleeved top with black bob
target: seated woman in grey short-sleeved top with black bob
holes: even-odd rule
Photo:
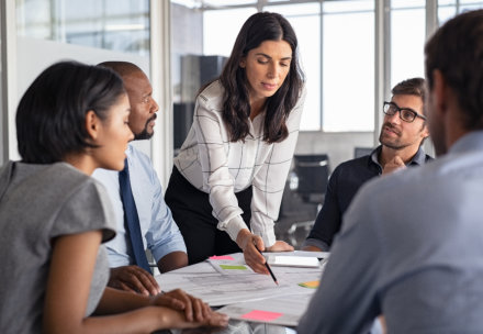
[[[22,97],[22,160],[0,168],[0,333],[150,333],[226,324],[181,290],[148,298],[105,288],[101,244],[114,237],[115,226],[109,197],[90,175],[99,167],[123,169],[133,140],[128,115],[116,74],[74,62],[48,67]]]

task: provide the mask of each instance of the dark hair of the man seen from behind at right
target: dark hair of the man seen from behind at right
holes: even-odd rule
[[[439,70],[457,94],[467,130],[483,129],[483,10],[449,20],[425,47],[426,78]]]

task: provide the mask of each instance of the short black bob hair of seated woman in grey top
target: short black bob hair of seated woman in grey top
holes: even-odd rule
[[[27,88],[16,109],[16,138],[22,160],[52,164],[67,154],[94,147],[86,114],[101,119],[125,93],[122,79],[108,68],[60,62],[45,69]]]

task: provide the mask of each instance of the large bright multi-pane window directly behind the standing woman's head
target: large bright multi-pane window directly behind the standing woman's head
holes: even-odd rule
[[[324,2],[324,16],[321,15],[318,1],[266,5],[263,10],[284,15],[299,38],[300,60],[307,86],[301,129],[372,131],[373,1],[327,1]],[[242,24],[255,12],[252,5],[245,8],[245,11],[204,11],[203,53],[228,56]],[[347,22],[351,22],[350,29]],[[322,38],[321,24],[324,25]],[[334,34],[335,31],[337,34]],[[357,110],[341,103],[348,93],[358,101]]]

